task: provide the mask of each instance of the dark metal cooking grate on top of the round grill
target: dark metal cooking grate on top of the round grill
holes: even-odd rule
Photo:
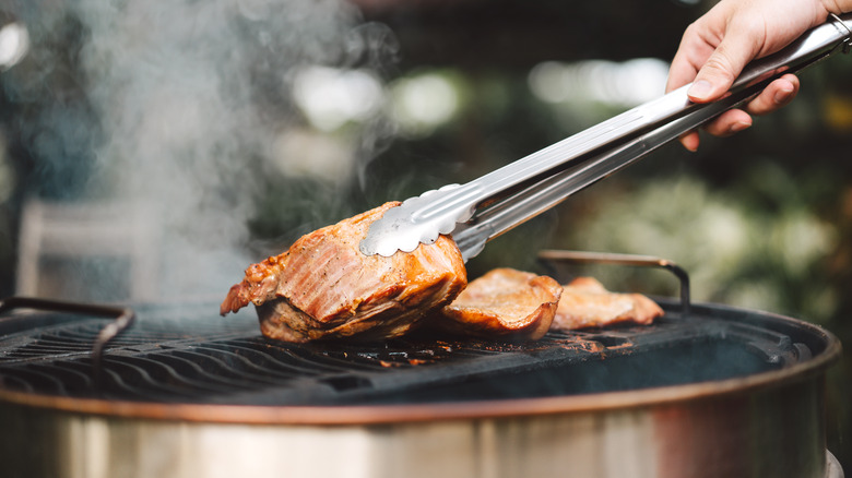
[[[24,318],[0,321],[0,387],[163,403],[409,403],[713,380],[809,356],[789,331],[719,311],[682,318],[675,304],[662,303],[666,315],[653,326],[549,333],[529,344],[423,337],[294,345],[262,337],[250,312],[221,319],[209,312],[212,306],[146,308],[109,343],[97,384],[91,348],[104,321],[35,313],[26,315],[26,326]],[[708,360],[713,356],[731,360],[720,367]]]

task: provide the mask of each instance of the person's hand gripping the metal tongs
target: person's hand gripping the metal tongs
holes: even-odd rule
[[[666,92],[689,82],[689,99],[709,103],[721,98],[745,65],[771,55],[826,21],[842,13],[852,0],[722,0],[689,25],[672,60]],[[827,4],[829,4],[827,7]],[[766,115],[790,103],[798,93],[798,79],[788,74],[771,82],[743,109],[732,109],[708,123],[717,136],[752,126],[752,115]],[[698,148],[698,133],[681,138],[689,151]]]

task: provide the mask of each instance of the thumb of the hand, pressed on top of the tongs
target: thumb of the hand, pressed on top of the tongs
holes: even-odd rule
[[[708,103],[721,98],[734,83],[746,63],[754,58],[753,47],[746,38],[726,36],[698,71],[687,89],[689,99]]]

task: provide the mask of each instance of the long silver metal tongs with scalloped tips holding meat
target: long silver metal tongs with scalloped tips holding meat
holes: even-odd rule
[[[831,15],[783,50],[749,63],[724,98],[694,104],[686,85],[465,184],[407,199],[370,226],[360,251],[389,256],[452,235],[468,261],[488,240],[747,101],[781,75],[850,49],[852,13]]]

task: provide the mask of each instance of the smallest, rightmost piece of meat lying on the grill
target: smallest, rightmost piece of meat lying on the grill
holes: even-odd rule
[[[641,294],[615,294],[592,277],[578,277],[564,286],[552,328],[570,331],[619,322],[650,324],[663,309]]]

